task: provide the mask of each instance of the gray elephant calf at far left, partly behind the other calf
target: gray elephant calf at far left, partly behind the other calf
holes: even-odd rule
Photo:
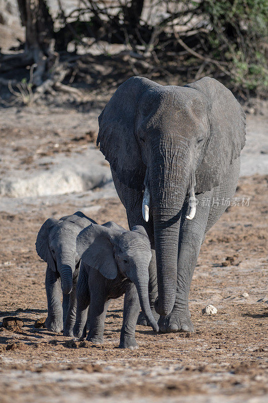
[[[47,329],[72,337],[76,313],[76,283],[80,257],[76,249],[79,232],[95,221],[81,212],[60,220],[49,218],[40,228],[36,240],[38,255],[47,262],[46,293]],[[63,302],[61,297],[63,292]]]

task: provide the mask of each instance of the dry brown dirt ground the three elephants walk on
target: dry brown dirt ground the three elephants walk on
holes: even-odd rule
[[[34,150],[27,154],[38,134],[23,125],[19,132],[12,125],[2,126],[2,149],[18,138],[20,147],[27,143],[25,150],[14,150],[16,169],[38,163]],[[44,153],[54,152],[53,142],[60,143],[57,152],[66,153],[91,140],[71,141],[70,133],[61,141],[51,130],[46,144],[44,131],[40,136]],[[31,199],[28,204],[22,199],[14,211],[10,199],[10,206],[0,212],[0,320],[17,316],[24,325],[0,328],[3,403],[267,401],[267,182],[265,175],[240,178],[240,206],[228,208],[207,234],[191,287],[195,332],[156,334],[137,326],[136,351],[117,348],[122,299],[110,305],[101,347],[34,327],[47,312],[46,264],[34,246],[40,226],[50,216],[83,210],[80,204],[87,205],[85,213],[99,223],[113,220],[127,228],[119,199],[100,198],[97,189],[95,197],[93,191],[91,197],[84,192]],[[241,206],[243,197],[250,198],[249,206]],[[203,315],[207,304],[218,313]]]

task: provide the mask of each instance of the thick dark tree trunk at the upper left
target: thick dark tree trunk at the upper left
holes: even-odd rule
[[[55,62],[53,20],[45,0],[18,0],[22,25],[26,27],[25,55],[37,64],[34,84],[43,82],[46,70]]]

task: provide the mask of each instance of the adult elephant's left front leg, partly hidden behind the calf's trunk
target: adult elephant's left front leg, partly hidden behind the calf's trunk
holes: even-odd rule
[[[152,258],[149,264],[149,301],[153,317],[157,321],[159,319],[159,315],[154,308],[154,302],[158,296],[156,257],[155,257],[155,250],[151,249],[151,252],[152,252]],[[142,311],[139,313],[137,324],[140,324],[142,326],[151,326]]]

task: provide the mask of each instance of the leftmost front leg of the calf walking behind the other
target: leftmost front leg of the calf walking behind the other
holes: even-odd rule
[[[60,277],[49,266],[46,271],[46,294],[48,315],[45,326],[48,330],[60,333],[63,329],[63,311],[61,305]]]

